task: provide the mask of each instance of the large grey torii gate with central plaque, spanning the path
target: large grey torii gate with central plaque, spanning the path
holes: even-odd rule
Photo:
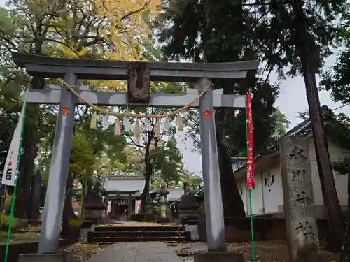
[[[259,61],[234,63],[167,63],[138,61],[104,61],[90,59],[62,59],[35,54],[14,53],[15,63],[30,75],[40,78],[63,78],[83,99],[95,105],[144,105],[150,107],[179,108],[194,101],[210,80],[246,78],[248,71],[258,68]],[[90,92],[78,88],[82,80],[128,80],[128,92]],[[186,94],[150,93],[149,81],[197,82],[197,89]],[[137,97],[141,91],[143,97]],[[211,88],[209,89],[211,90]],[[62,219],[64,194],[69,168],[69,152],[76,105],[84,105],[66,89],[36,90],[27,93],[28,103],[59,104],[55,140],[53,145],[48,190],[41,226],[38,253],[50,254],[58,250],[59,228]],[[206,92],[191,107],[200,110],[204,202],[207,221],[209,253],[225,252],[225,226],[221,182],[218,166],[218,149],[214,107],[244,108],[245,97],[223,94],[223,89]],[[226,253],[225,253],[226,254]],[[225,255],[226,256],[226,255]],[[204,258],[203,258],[204,259]],[[202,259],[200,259],[202,260]]]

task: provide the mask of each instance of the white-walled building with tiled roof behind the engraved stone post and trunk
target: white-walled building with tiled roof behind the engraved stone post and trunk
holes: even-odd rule
[[[312,185],[314,191],[314,205],[316,216],[324,218],[323,197],[321,191],[321,182],[318,176],[318,167],[314,140],[312,137],[309,120],[306,120],[291,129],[287,135],[305,135],[309,145],[309,159],[311,166]],[[339,161],[344,157],[350,157],[350,151],[334,145],[328,140],[328,149],[331,161]],[[338,175],[333,171],[337,195],[342,210],[346,210],[347,205],[347,175]],[[246,166],[242,165],[235,170],[235,178],[239,193],[246,214],[249,212],[248,191],[246,189]],[[275,214],[283,217],[283,188],[281,179],[281,168],[279,159],[279,146],[271,147],[269,153],[264,154],[254,161],[254,181],[255,187],[252,190],[252,214],[264,215]]]

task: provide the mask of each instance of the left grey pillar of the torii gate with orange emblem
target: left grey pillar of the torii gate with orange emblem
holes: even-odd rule
[[[64,82],[71,87],[76,87],[78,78],[74,73],[66,73]],[[67,90],[62,90],[60,99],[38,253],[57,252],[61,235],[60,225],[65,202],[76,105],[75,97]]]

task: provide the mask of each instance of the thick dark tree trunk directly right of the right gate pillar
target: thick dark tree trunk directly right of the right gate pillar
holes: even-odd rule
[[[218,115],[217,119],[221,119]],[[230,152],[225,143],[223,129],[216,124],[216,143],[218,144],[218,159],[221,180],[221,195],[225,217],[246,217],[243,201],[237,189],[235,175],[232,170]]]

